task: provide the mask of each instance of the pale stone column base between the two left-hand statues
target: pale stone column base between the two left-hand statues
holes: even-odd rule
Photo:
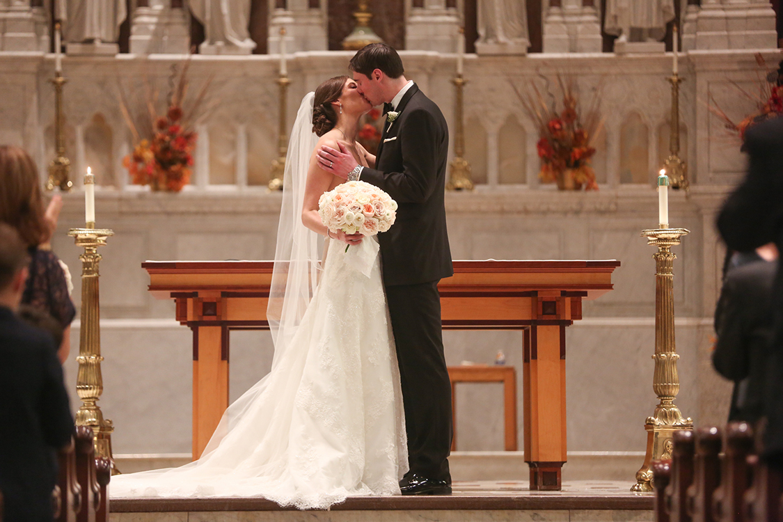
[[[189,15],[177,0],[136,0],[130,51],[135,54],[189,52]]]

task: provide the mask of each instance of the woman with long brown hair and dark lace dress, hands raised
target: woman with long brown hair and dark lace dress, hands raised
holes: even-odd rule
[[[55,196],[45,210],[32,158],[19,147],[0,146],[0,222],[19,232],[31,257],[22,303],[51,315],[63,327],[58,356],[64,362],[76,309],[60,259],[49,247],[61,205],[60,197]]]

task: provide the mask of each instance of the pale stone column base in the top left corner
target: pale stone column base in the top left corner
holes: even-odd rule
[[[49,52],[46,20],[38,0],[0,0],[0,52]]]

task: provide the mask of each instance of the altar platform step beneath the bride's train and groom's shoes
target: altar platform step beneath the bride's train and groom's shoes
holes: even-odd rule
[[[458,481],[453,495],[353,497],[328,511],[280,508],[265,499],[112,499],[111,522],[643,522],[653,520],[651,494],[632,481],[563,481],[561,491],[530,491],[528,481]]]

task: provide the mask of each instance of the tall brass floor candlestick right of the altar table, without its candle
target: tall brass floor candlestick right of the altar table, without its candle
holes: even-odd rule
[[[680,377],[677,376],[677,349],[674,344],[674,292],[673,264],[675,256],[671,247],[680,244],[680,237],[686,229],[652,229],[641,232],[647,244],[658,247],[655,257],[655,372],[652,389],[659,398],[655,412],[647,418],[647,453],[644,463],[637,471],[637,483],[631,491],[652,491],[652,462],[670,458],[672,435],[677,430],[692,430],[693,421],[685,419],[674,405],[674,398],[680,391]]]

